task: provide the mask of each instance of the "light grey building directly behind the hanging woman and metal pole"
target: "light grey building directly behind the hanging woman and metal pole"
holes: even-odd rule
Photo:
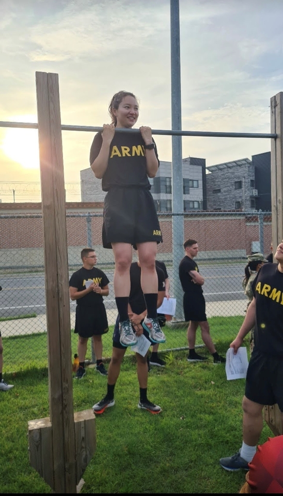
[[[183,159],[184,211],[206,209],[206,160],[194,157]],[[160,161],[155,178],[149,179],[151,193],[158,212],[172,212],[171,162]],[[80,171],[81,201],[103,201],[106,195],[101,179],[89,168]]]

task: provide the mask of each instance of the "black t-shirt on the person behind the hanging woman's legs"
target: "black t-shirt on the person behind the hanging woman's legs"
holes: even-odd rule
[[[165,291],[165,277],[163,270],[156,267],[157,278],[158,278],[158,291]],[[141,289],[141,267],[139,267],[138,262],[134,262],[130,267],[130,279],[131,279],[131,292],[129,303],[131,309],[137,315],[140,315],[145,309],[145,300],[143,297]]]

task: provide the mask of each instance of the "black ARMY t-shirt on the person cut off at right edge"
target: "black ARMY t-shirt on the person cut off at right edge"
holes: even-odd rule
[[[256,299],[255,348],[283,356],[283,273],[266,263],[253,282]]]

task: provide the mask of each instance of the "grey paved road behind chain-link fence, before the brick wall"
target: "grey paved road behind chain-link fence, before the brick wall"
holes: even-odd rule
[[[204,265],[201,262],[199,268],[206,282],[204,294],[207,302],[231,300],[246,300],[243,294],[242,279],[245,263],[225,265]],[[99,267],[99,266],[98,266]],[[105,298],[107,310],[116,309],[113,291],[113,270],[105,270],[110,281],[110,293]],[[168,269],[170,281],[173,281],[173,270]],[[71,274],[70,274],[71,276]],[[178,274],[175,274],[178,279]],[[45,286],[44,275],[20,274],[1,276],[0,284],[0,316],[16,316],[27,313],[45,313]],[[172,287],[172,282],[171,282]],[[75,308],[75,302],[71,302],[71,311]]]

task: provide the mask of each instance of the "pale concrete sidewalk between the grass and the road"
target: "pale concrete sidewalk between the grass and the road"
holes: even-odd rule
[[[208,317],[234,315],[245,315],[247,308],[246,300],[230,300],[220,302],[209,302],[206,304]],[[107,310],[108,324],[114,325],[116,322],[117,310]],[[75,312],[71,312],[71,329],[74,328]],[[23,336],[25,334],[35,334],[37,332],[47,332],[46,314],[37,317],[22,318],[17,320],[5,320],[0,322],[2,337]]]

